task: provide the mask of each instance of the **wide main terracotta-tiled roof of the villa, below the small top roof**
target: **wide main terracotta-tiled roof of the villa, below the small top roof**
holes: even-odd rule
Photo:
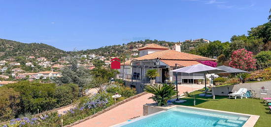
[[[165,50],[165,51],[156,51],[141,57],[135,58],[137,60],[146,60],[146,59],[160,59],[160,60],[211,60],[216,61],[216,59],[203,57],[200,55],[173,51],[173,50]]]

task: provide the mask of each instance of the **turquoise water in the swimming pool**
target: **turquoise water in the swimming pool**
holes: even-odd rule
[[[176,107],[121,127],[242,127],[248,116]],[[128,122],[129,123],[129,122]]]

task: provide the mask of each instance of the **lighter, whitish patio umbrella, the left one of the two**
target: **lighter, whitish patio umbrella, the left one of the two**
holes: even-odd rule
[[[170,72],[181,72],[181,73],[196,73],[196,74],[204,74],[204,81],[205,81],[205,96],[207,95],[206,91],[206,74],[213,74],[213,73],[225,73],[226,71],[223,71],[218,68],[206,66],[204,64],[196,64],[188,67],[183,67],[179,69],[172,70]]]

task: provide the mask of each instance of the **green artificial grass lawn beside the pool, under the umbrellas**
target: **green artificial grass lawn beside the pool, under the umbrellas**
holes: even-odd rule
[[[198,96],[203,92],[194,91],[190,93],[192,98],[183,98],[187,100],[183,103],[174,103],[185,106],[194,106],[194,98],[196,98],[196,106],[200,108],[208,108],[214,110],[230,111],[244,114],[259,115],[256,125],[254,127],[271,127],[271,113],[269,113],[269,107],[262,103],[260,99],[228,99],[226,96],[215,96],[215,100],[212,97],[200,97]]]

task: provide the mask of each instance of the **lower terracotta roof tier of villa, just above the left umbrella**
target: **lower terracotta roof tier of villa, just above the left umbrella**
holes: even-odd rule
[[[200,64],[197,61],[191,61],[191,60],[161,60],[165,64],[169,65],[170,67],[174,67],[175,64],[177,64],[178,67],[187,67],[195,64]]]

